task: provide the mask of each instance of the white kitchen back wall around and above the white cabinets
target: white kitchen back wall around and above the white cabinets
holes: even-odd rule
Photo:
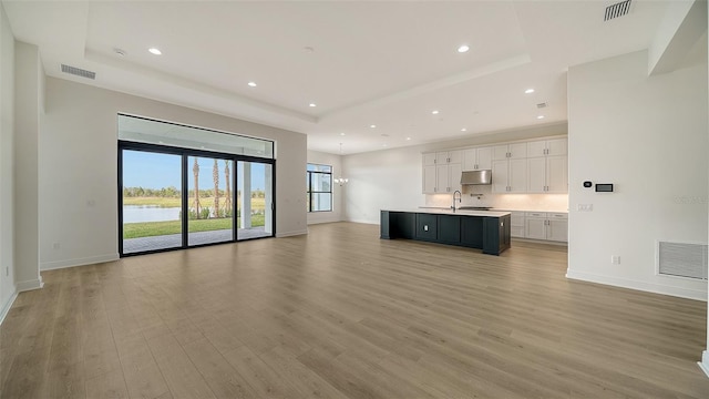
[[[565,123],[346,155],[342,158],[342,168],[350,180],[347,184],[347,195],[345,197],[346,217],[351,222],[378,224],[380,209],[411,208],[423,205],[450,206],[451,195],[424,195],[421,193],[422,152],[486,145],[561,134],[566,134]],[[516,205],[528,202],[541,206],[541,209],[546,209],[545,206],[553,208],[549,211],[566,209],[565,196],[514,195],[513,198],[506,195],[492,195],[490,186],[466,186],[463,187],[462,192],[464,194],[463,205],[481,204],[494,205],[495,207],[517,208]],[[476,194],[479,192],[485,194],[481,201],[470,196],[471,193]]]

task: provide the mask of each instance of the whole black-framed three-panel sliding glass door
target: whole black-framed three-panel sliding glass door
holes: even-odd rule
[[[121,255],[274,236],[274,164],[120,142]]]

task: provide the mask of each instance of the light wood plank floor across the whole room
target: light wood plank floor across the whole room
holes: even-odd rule
[[[43,273],[2,398],[709,398],[705,303],[337,223]]]

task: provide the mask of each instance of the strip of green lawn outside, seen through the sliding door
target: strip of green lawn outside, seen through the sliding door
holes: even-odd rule
[[[167,198],[166,198],[167,200]],[[240,218],[237,218],[237,225]],[[260,227],[264,225],[264,215],[251,215],[251,226]],[[192,219],[189,221],[189,233],[212,232],[217,229],[232,228],[232,218],[209,218],[209,219]],[[126,223],[123,225],[123,238],[141,238],[154,237],[160,235],[179,234],[182,231],[182,221],[168,222],[144,222],[144,223]]]

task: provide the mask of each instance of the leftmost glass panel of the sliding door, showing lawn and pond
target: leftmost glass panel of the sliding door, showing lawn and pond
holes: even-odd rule
[[[182,246],[182,156],[123,150],[123,254]]]

